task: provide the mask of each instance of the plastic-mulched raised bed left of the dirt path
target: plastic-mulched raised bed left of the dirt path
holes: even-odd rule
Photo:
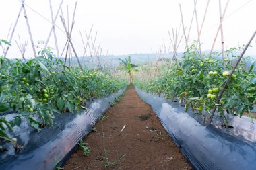
[[[3,144],[7,151],[0,153],[0,169],[55,169],[63,165],[77,146],[79,140],[87,136],[98,118],[110,107],[116,97],[125,89],[102,99],[95,99],[88,109],[80,114],[55,114],[54,128],[42,128],[37,132],[22,121],[19,127],[14,127],[15,134],[22,146],[20,151],[14,151],[9,143]],[[9,114],[6,119],[14,114]]]

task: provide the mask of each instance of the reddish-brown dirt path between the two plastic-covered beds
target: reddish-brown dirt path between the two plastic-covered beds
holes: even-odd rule
[[[82,149],[77,149],[65,163],[65,170],[191,169],[134,87],[128,87],[125,96],[109,108],[95,128],[96,132],[84,140],[90,154],[85,157]]]

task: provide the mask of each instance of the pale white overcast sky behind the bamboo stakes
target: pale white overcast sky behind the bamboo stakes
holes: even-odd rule
[[[222,0],[222,11],[227,0]],[[248,2],[248,3],[247,3]],[[9,27],[14,24],[18,16],[21,3],[18,0],[0,0],[1,3],[1,29],[0,38],[6,39]],[[38,40],[46,41],[46,37],[51,29],[51,24],[44,18],[40,17],[29,7],[51,20],[49,1],[48,0],[26,0],[26,11],[34,42]],[[53,0],[53,13],[57,12],[61,0]],[[75,14],[75,26],[73,28],[72,39],[74,41],[77,54],[82,56],[84,50],[79,31],[82,32],[85,40],[84,30],[89,32],[93,26],[92,35],[95,36],[96,46],[100,44],[103,54],[133,54],[133,53],[154,53],[158,52],[159,46],[166,43],[166,47],[170,44],[168,37],[168,29],[179,28],[181,24],[181,15],[179,13],[179,3],[183,9],[183,17],[187,30],[193,13],[193,0],[77,0],[77,11]],[[203,20],[205,12],[206,0],[197,0],[197,15],[199,26]],[[247,5],[245,5],[247,3]],[[67,4],[69,5],[70,22],[73,15],[74,0],[65,0],[63,3],[63,13],[67,22]],[[244,7],[242,7],[245,5]],[[240,8],[242,7],[242,8]],[[223,23],[224,27],[224,43],[225,48],[238,46],[238,44],[246,44],[256,30],[256,0],[231,0],[226,11],[226,17]],[[236,9],[239,9],[236,11]],[[202,50],[208,50],[212,46],[214,36],[218,28],[219,22],[219,5],[217,0],[210,0],[210,6],[207,11],[205,24],[201,34]],[[12,25],[13,26],[13,25]],[[57,18],[57,26],[63,30],[61,19]],[[59,43],[60,53],[63,50],[66,36],[57,28],[57,38]],[[30,44],[30,38],[26,28],[24,13],[18,22],[15,30],[12,47],[9,50],[8,58],[18,57],[21,54],[15,40],[18,40],[20,34],[21,41],[29,41],[26,50],[26,56],[33,56]],[[182,28],[180,30],[180,36]],[[191,29],[189,40],[197,39],[197,30],[195,20]],[[253,48],[249,50],[249,54],[256,51],[255,40]],[[53,35],[49,42],[49,46],[53,47],[55,52],[55,44]],[[182,40],[179,51],[183,51],[185,41]],[[220,36],[216,42],[216,50],[220,49]],[[2,53],[2,50],[0,50]]]

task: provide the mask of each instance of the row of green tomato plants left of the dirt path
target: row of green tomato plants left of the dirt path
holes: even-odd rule
[[[17,116],[10,121],[0,117],[0,138],[8,140],[7,129],[19,126],[22,118],[40,131],[41,127],[53,126],[54,112],[79,113],[87,101],[110,95],[128,84],[107,71],[69,68],[49,48],[38,54],[27,62],[8,59],[1,62],[0,114],[15,112]]]

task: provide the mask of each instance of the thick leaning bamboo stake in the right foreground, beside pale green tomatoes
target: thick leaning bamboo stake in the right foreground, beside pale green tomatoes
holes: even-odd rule
[[[238,58],[238,60],[237,60],[237,62],[236,62],[236,65],[234,65],[234,67],[233,67],[233,69],[232,69],[230,75],[228,76],[228,79],[226,79],[225,84],[224,84],[224,86],[222,87],[222,90],[220,91],[220,93],[219,93],[219,95],[218,95],[218,99],[216,100],[216,105],[218,105],[218,104],[220,103],[220,99],[222,98],[222,95],[223,95],[223,93],[224,93],[226,87],[228,86],[228,83],[229,83],[229,81],[230,81],[230,79],[231,79],[231,77],[232,77],[234,71],[236,70],[236,67],[238,67],[239,62],[242,60],[242,58],[243,58],[243,56],[244,56],[244,54],[245,54],[247,48],[250,46],[251,41],[252,41],[253,38],[255,37],[255,34],[256,34],[256,31],[253,33],[253,36],[251,36],[249,42],[247,43],[247,46],[245,46],[245,49],[243,50],[243,52],[241,53],[240,57]],[[210,116],[210,120],[209,120],[208,125],[211,124],[212,118],[214,118],[214,114],[215,114],[216,109],[217,109],[217,106],[216,106],[216,105],[214,105],[214,109],[212,110],[212,113],[211,113],[211,116]]]

